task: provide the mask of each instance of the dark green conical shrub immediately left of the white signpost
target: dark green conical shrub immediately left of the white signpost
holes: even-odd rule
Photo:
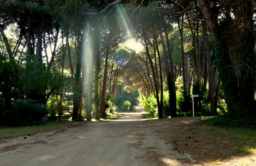
[[[180,94],[177,95],[177,112],[192,111],[192,100],[187,87],[181,87]]]

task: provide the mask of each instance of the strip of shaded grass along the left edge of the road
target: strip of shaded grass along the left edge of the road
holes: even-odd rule
[[[55,130],[61,127],[66,127],[68,124],[73,125],[79,122],[72,121],[46,121],[43,125],[35,126],[21,126],[21,127],[1,127],[0,138],[15,137],[20,135],[27,135],[39,132],[46,132],[49,130]]]

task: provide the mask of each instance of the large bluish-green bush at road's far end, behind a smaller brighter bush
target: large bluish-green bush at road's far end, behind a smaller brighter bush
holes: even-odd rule
[[[122,91],[121,95],[117,96],[114,99],[114,103],[118,108],[121,108],[124,101],[129,101],[131,103],[131,107],[136,106],[138,104],[138,97],[140,96],[139,91],[136,90],[133,94],[128,93],[126,90]]]

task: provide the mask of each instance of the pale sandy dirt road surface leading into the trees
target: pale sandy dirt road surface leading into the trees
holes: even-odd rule
[[[142,108],[110,122],[84,122],[62,130],[0,141],[0,166],[181,166],[194,160],[179,154],[161,132],[181,118],[144,119]]]

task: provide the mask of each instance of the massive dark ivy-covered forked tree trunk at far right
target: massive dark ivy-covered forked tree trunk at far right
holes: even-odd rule
[[[236,31],[241,34],[240,39],[240,60],[245,62],[240,69],[241,76],[237,76],[230,59],[229,45],[225,33],[232,24],[228,18],[218,25],[217,17],[210,0],[197,0],[204,15],[211,37],[215,43],[215,57],[219,71],[222,87],[226,96],[228,113],[230,117],[243,117],[255,110],[254,86],[255,86],[255,53],[253,46],[253,23],[252,23],[252,1],[236,1],[237,8],[234,13],[239,12],[240,18],[236,19],[240,25]],[[216,5],[216,4],[215,4]],[[241,33],[242,32],[242,33]],[[250,71],[250,72],[249,72]],[[253,77],[252,77],[253,76]],[[238,80],[238,81],[237,81]],[[238,83],[239,82],[239,83]],[[252,104],[253,103],[253,104]]]

